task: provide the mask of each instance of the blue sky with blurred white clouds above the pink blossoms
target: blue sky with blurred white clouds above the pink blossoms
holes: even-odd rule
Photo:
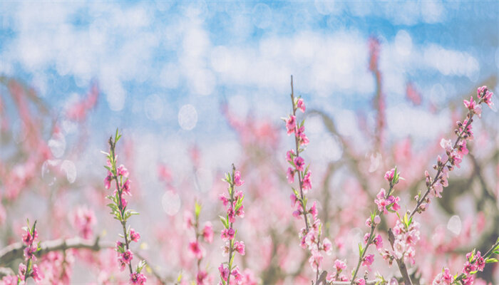
[[[222,102],[277,122],[291,74],[311,108],[368,109],[376,36],[389,117],[418,118],[406,82],[423,106],[445,108],[498,76],[498,15],[497,1],[2,1],[0,73],[31,83],[56,113],[98,81],[91,124],[103,133],[200,140],[227,130]]]

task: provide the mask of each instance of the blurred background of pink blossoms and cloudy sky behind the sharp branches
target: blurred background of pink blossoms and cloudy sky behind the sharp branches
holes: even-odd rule
[[[0,247],[20,240],[28,217],[42,241],[114,242],[120,228],[105,207],[101,150],[119,128],[129,207],[140,212],[130,219],[142,235],[137,250],[165,281],[180,272],[194,279],[187,243],[195,235],[183,219],[195,200],[201,221],[214,225],[202,266],[217,281],[225,260],[220,180],[233,162],[247,195],[237,222],[247,254],[237,264],[263,284],[309,284],[285,177],[294,141],[281,118],[291,111],[293,75],[307,104],[310,196],[334,244],[324,269],[339,258],[351,270],[373,199],[387,187],[384,172],[398,165],[401,207],[412,209],[424,170],[443,153],[438,143],[453,139],[465,116],[462,100],[483,85],[498,93],[498,15],[497,1],[2,1]],[[475,120],[470,155],[451,172],[443,199],[416,216],[421,248],[411,274],[421,284],[443,266],[461,271],[466,252],[495,242],[496,98]],[[90,235],[78,229],[82,213],[95,221]],[[116,283],[126,274],[102,269],[113,259],[67,251],[42,262],[48,271],[64,261],[70,283]],[[382,274],[396,273],[376,259]],[[497,266],[479,276],[499,282]]]

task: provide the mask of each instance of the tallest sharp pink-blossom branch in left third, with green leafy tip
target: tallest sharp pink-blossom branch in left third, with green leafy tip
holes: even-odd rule
[[[133,284],[145,284],[147,280],[146,277],[140,273],[143,267],[145,266],[145,261],[139,261],[135,272],[132,269],[131,261],[133,259],[133,252],[130,251],[130,242],[138,242],[140,239],[140,234],[135,232],[134,229],[130,229],[126,227],[126,222],[128,218],[130,218],[133,214],[138,214],[130,209],[126,209],[128,202],[126,201],[124,194],[130,195],[130,180],[128,179],[128,170],[120,165],[116,167],[116,158],[115,147],[116,142],[120,140],[121,135],[116,130],[116,134],[113,140],[113,137],[109,138],[109,149],[110,153],[106,153],[108,158],[108,165],[105,166],[108,170],[108,175],[104,180],[104,185],[107,189],[110,188],[110,184],[112,181],[115,182],[116,188],[113,192],[113,195],[108,195],[106,198],[110,199],[112,203],[108,204],[111,212],[110,214],[114,215],[115,219],[118,219],[121,223],[121,227],[123,227],[123,239],[125,240],[125,244],[120,241],[116,242],[116,252],[118,252],[118,262],[120,264],[120,269],[123,270],[125,266],[128,264],[128,269],[130,270],[130,281]],[[123,179],[125,181],[123,181]]]

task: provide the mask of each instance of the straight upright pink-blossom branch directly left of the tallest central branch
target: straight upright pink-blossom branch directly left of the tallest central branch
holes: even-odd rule
[[[232,175],[226,173],[223,181],[229,183],[229,187],[227,188],[229,196],[225,197],[225,195],[222,195],[220,197],[224,206],[227,207],[226,217],[220,216],[220,220],[224,225],[221,237],[222,240],[226,242],[224,254],[229,254],[229,261],[220,264],[218,270],[220,271],[220,279],[223,285],[231,284],[231,275],[234,276],[236,284],[241,284],[243,276],[240,273],[239,267],[236,266],[234,269],[232,263],[234,261],[235,252],[245,255],[245,243],[235,240],[237,231],[233,228],[233,223],[235,222],[236,216],[245,216],[244,206],[242,205],[242,200],[245,198],[245,195],[242,195],[242,192],[235,190],[234,187],[242,186],[244,181],[241,179],[241,173],[236,171],[236,167],[234,165],[232,165]],[[224,264],[227,264],[227,267],[225,267]]]

